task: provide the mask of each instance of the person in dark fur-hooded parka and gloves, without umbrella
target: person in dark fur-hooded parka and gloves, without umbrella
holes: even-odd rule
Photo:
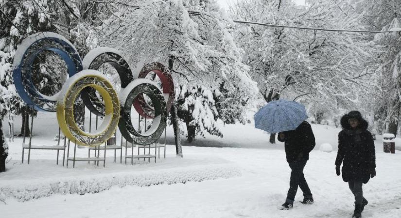
[[[376,175],[375,144],[367,131],[367,122],[359,111],[353,110],[341,118],[343,130],[338,134],[338,152],[335,159],[336,174],[340,175],[343,163],[343,180],[355,196],[354,218],[360,218],[367,200],[363,197],[362,184]]]

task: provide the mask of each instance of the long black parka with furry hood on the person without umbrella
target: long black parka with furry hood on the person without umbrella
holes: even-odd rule
[[[352,129],[348,120],[356,118],[358,126]],[[343,130],[338,134],[338,152],[335,165],[343,163],[344,182],[358,181],[367,183],[370,169],[376,168],[375,144],[372,134],[367,131],[367,122],[359,111],[350,111],[341,118]]]

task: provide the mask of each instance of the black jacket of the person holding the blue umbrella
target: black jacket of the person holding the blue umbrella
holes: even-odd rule
[[[278,140],[284,142],[285,155],[287,162],[306,161],[309,159],[309,152],[314,149],[314,133],[311,125],[304,121],[295,130],[285,131],[284,139]]]

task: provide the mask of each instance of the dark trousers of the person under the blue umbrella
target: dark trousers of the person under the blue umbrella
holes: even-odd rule
[[[289,203],[294,202],[298,186],[301,188],[303,196],[305,198],[312,198],[311,189],[309,189],[308,183],[306,182],[305,177],[303,175],[303,169],[306,165],[306,160],[300,162],[291,162],[288,163],[288,165],[290,165],[291,168],[291,177],[290,177],[290,189],[288,189],[286,202]]]

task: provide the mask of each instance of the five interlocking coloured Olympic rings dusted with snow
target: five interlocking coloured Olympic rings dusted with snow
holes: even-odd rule
[[[33,62],[45,50],[61,57],[67,65],[69,75],[61,90],[52,96],[40,93],[32,79]],[[116,69],[121,81],[120,93],[98,71],[104,63]],[[25,104],[38,111],[56,112],[63,134],[79,145],[96,146],[104,143],[117,127],[127,141],[151,144],[166,127],[168,110],[174,101],[173,78],[161,63],[145,65],[139,78],[135,79],[122,52],[114,48],[99,47],[89,51],[81,60],[75,47],[63,36],[53,32],[38,32],[28,36],[17,48],[14,67],[16,90]],[[161,87],[145,78],[150,72],[160,78]],[[100,93],[101,99],[95,91]],[[148,101],[143,94],[148,96]],[[82,97],[87,109],[105,118],[102,125],[92,133],[81,130],[75,122],[73,108],[78,95]],[[132,124],[132,106],[142,117],[153,119],[151,128],[145,133],[137,131]]]

